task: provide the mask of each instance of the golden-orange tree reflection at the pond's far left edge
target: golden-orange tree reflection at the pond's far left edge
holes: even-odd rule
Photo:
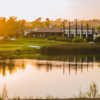
[[[25,61],[24,60],[0,60],[0,74],[6,76],[7,73],[13,74],[17,70],[25,69]]]

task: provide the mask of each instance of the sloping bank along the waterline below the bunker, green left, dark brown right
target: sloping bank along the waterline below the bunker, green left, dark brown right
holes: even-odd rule
[[[68,55],[94,55],[100,56],[100,44],[89,43],[67,43],[45,45],[39,48],[23,47],[15,50],[0,50],[0,58],[35,58],[35,59],[56,59],[56,56]]]

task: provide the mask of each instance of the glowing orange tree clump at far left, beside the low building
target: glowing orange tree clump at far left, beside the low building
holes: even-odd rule
[[[0,36],[5,38],[18,37],[23,35],[24,28],[25,20],[17,20],[17,17],[0,18]]]

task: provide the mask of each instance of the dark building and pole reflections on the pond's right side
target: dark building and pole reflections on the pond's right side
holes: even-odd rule
[[[66,57],[66,61],[38,61],[36,67],[38,69],[45,69],[47,72],[52,71],[54,68],[62,70],[65,74],[66,70],[71,73],[71,70],[83,72],[84,70],[93,69],[96,65],[95,57]]]

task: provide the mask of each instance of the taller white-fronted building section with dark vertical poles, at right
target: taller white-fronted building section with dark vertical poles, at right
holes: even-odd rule
[[[65,34],[68,38],[79,36],[88,40],[93,40],[95,30],[91,27],[83,25],[69,25],[65,28]]]

